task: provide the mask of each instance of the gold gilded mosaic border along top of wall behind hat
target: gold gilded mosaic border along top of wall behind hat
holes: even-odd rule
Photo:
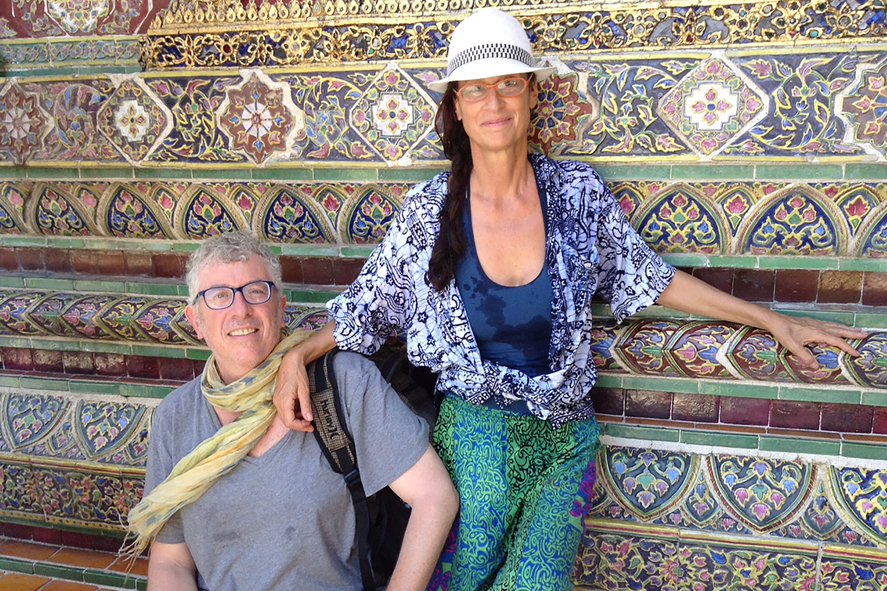
[[[547,0],[173,0],[141,39],[147,68],[297,66],[443,58],[467,12],[522,19],[536,51],[655,50],[880,42],[884,0],[551,2]]]

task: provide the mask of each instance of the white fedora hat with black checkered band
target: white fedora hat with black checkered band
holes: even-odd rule
[[[521,23],[498,8],[482,8],[460,22],[452,32],[446,60],[446,77],[428,82],[429,89],[443,92],[456,80],[525,72],[534,72],[542,81],[557,69],[536,66],[533,47]]]

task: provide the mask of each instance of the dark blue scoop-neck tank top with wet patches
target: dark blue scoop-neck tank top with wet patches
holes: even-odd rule
[[[541,188],[538,192],[547,234],[547,199]],[[483,272],[477,258],[470,197],[463,210],[463,222],[467,252],[456,264],[456,285],[465,302],[468,322],[481,357],[498,365],[520,369],[530,377],[548,373],[554,292],[547,265],[542,265],[542,271],[529,284],[508,287],[494,283]],[[526,404],[522,404],[522,408],[526,411]]]

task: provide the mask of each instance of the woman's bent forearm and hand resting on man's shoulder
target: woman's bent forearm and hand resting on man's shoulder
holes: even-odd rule
[[[310,338],[292,349],[280,360],[277,383],[274,385],[274,406],[283,424],[296,431],[314,431],[311,413],[311,391],[305,366],[335,347],[335,322],[326,323]]]

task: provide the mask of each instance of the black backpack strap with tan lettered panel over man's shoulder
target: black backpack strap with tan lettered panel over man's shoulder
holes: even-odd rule
[[[314,410],[314,439],[333,470],[345,478],[345,485],[354,503],[357,530],[357,556],[360,561],[360,577],[364,591],[375,591],[376,583],[370,564],[370,511],[366,505],[364,484],[357,470],[357,453],[354,439],[345,426],[345,413],[341,408],[339,386],[333,373],[333,358],[338,349],[324,354],[309,363],[308,385],[311,392],[311,408]]]

